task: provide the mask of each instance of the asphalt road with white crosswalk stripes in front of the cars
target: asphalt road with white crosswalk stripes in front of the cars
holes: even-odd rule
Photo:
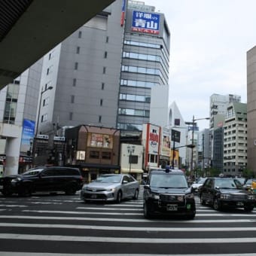
[[[120,204],[0,196],[0,255],[256,255],[256,209],[216,212],[197,199],[194,220],[146,220],[142,190]]]

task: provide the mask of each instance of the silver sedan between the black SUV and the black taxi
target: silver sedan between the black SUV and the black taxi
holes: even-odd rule
[[[105,174],[99,176],[81,189],[81,200],[116,201],[120,203],[126,198],[138,199],[139,181],[131,175]]]

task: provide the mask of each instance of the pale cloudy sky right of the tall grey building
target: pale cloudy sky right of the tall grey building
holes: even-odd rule
[[[255,0],[144,0],[171,33],[169,103],[184,121],[209,117],[214,93],[247,102],[246,52],[256,45]],[[200,130],[209,120],[198,120]]]

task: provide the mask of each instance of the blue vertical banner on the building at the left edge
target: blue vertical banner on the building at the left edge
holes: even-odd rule
[[[35,121],[23,120],[23,133],[21,137],[20,151],[26,152],[30,150],[30,139],[34,138]]]

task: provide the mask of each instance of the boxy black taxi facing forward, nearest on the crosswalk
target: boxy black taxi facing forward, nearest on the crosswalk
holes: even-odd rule
[[[178,169],[153,169],[144,186],[143,208],[145,218],[155,214],[184,215],[194,218],[196,203],[184,172]]]

